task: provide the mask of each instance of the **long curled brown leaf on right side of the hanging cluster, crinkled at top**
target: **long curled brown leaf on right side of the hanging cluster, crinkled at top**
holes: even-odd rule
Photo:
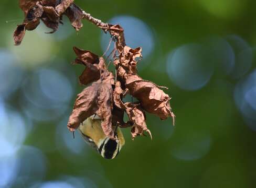
[[[124,47],[119,59],[114,61],[118,78],[129,89],[130,95],[141,102],[143,109],[157,115],[162,120],[173,117],[174,124],[175,115],[170,108],[170,97],[161,89],[165,87],[157,86],[152,81],[143,80],[136,74],[137,58],[142,57],[141,52],[141,48]]]

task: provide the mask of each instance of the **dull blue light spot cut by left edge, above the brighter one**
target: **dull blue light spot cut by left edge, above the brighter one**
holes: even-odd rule
[[[19,86],[23,78],[23,69],[17,65],[18,60],[13,55],[0,49],[0,97],[8,97]]]

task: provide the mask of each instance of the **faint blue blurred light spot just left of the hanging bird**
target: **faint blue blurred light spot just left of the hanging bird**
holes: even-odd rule
[[[56,128],[56,145],[60,151],[64,151],[65,155],[72,152],[73,154],[81,154],[88,150],[89,146],[84,142],[79,131],[75,133],[73,139],[72,133],[67,128],[68,119],[65,119],[59,123]],[[68,149],[68,152],[67,152]],[[71,154],[71,155],[73,155]],[[83,156],[84,157],[84,156]]]

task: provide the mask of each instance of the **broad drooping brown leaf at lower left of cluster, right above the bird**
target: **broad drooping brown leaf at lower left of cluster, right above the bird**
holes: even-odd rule
[[[74,103],[73,111],[69,117],[68,128],[74,131],[81,122],[93,114],[102,119],[102,129],[106,136],[114,139],[112,128],[113,89],[108,83],[94,83],[84,89]]]

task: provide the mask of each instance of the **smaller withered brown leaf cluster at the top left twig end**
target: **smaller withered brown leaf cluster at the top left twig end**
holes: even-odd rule
[[[62,16],[66,15],[71,25],[79,30],[82,27],[82,10],[73,3],[74,0],[19,0],[19,6],[24,11],[25,19],[18,25],[14,32],[15,45],[19,45],[26,30],[34,30],[40,23],[52,29],[50,33],[58,30],[59,23],[62,23]]]

